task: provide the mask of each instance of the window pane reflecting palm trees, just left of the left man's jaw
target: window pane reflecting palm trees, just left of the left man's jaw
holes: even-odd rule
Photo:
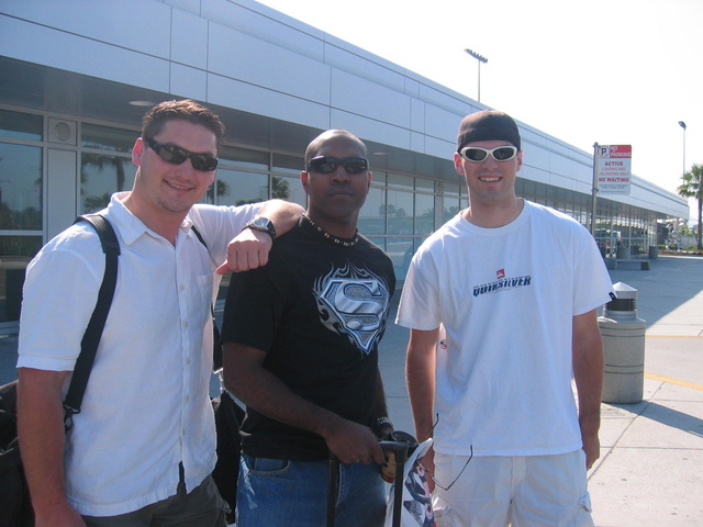
[[[129,157],[83,153],[80,156],[80,213],[99,211],[108,206],[114,192],[132,190],[134,175]]]

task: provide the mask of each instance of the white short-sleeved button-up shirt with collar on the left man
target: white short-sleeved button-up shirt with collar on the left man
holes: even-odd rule
[[[209,399],[213,269],[260,204],[196,205],[176,246],[112,197],[105,211],[120,242],[114,300],[74,416],[65,470],[80,514],[113,516],[188,492],[215,463]],[[190,229],[198,226],[208,250]],[[72,371],[96,306],[104,254],[94,229],[74,225],[30,262],[20,321],[20,368]],[[64,386],[64,394],[68,381]]]

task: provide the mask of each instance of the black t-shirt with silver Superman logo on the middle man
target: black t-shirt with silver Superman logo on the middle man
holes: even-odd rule
[[[360,236],[344,247],[302,218],[276,239],[267,266],[233,274],[222,337],[266,351],[264,368],[303,399],[371,426],[394,289],[392,262],[378,246]],[[249,456],[327,457],[321,436],[250,407],[242,435]]]

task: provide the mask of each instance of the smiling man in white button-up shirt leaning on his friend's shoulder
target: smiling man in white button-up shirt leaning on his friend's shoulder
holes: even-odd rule
[[[62,402],[104,255],[96,232],[77,224],[27,267],[19,431],[37,527],[225,525],[226,505],[210,476],[213,271],[266,265],[276,231],[290,229],[302,208],[198,204],[223,137],[219,117],[193,101],[165,102],[145,115],[132,153],[134,188],[101,211],[120,242],[118,283],[67,436]]]

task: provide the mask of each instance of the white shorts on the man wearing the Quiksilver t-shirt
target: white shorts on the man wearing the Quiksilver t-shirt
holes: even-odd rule
[[[435,453],[437,527],[593,527],[583,450],[467,459]]]

